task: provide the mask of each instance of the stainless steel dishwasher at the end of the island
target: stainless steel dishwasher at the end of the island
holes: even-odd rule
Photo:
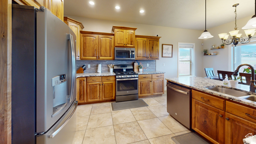
[[[167,82],[167,112],[191,129],[191,89]]]

